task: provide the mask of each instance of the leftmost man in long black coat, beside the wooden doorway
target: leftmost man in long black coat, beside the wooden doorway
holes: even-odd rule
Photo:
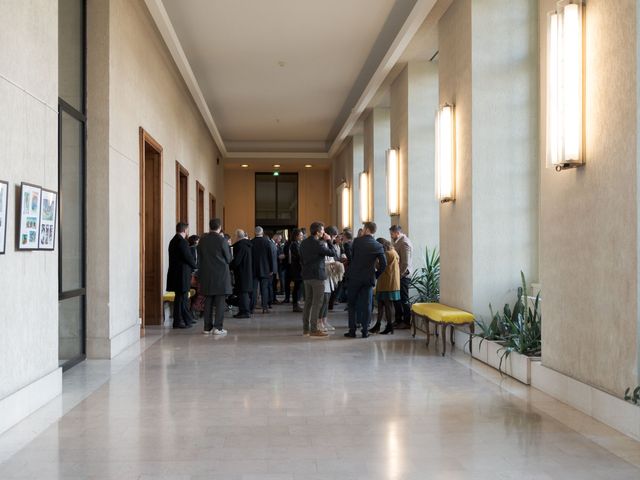
[[[176,234],[169,242],[169,271],[167,272],[167,291],[175,293],[173,300],[173,328],[189,328],[194,323],[187,306],[191,272],[196,269],[196,261],[189,251],[185,239],[189,224],[179,222]]]

